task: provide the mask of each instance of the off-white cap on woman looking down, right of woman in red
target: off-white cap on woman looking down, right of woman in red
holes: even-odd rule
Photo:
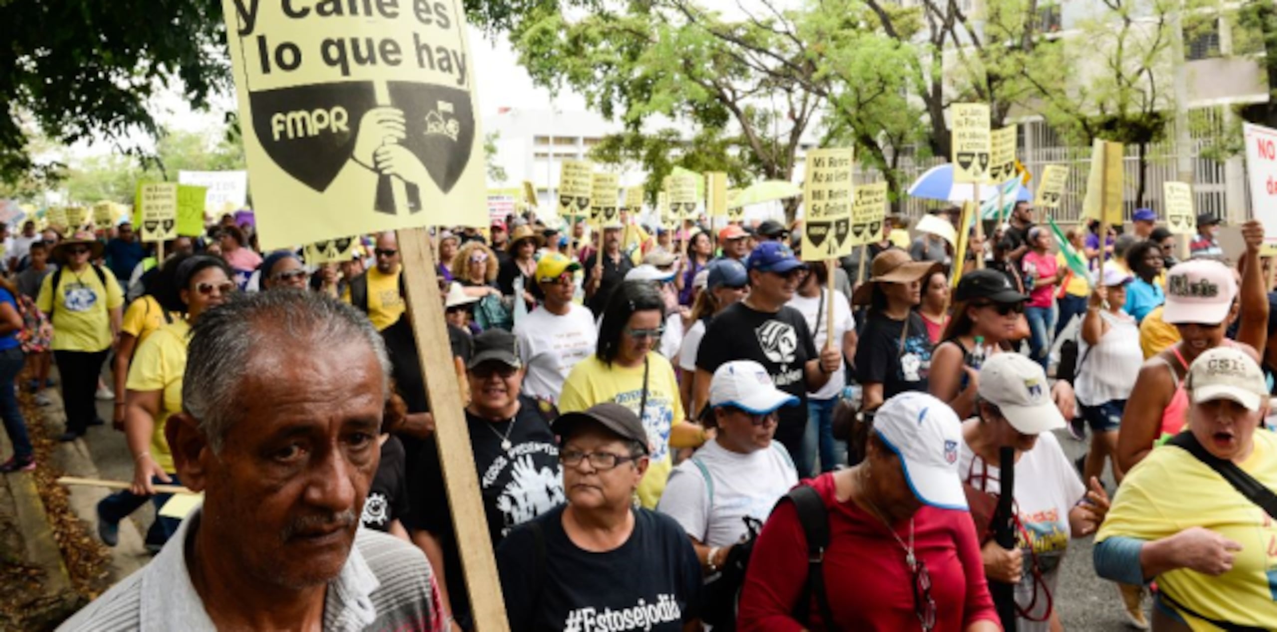
[[[979,369],[979,397],[1002,411],[1022,434],[1064,428],[1042,365],[1020,354],[995,354]]]

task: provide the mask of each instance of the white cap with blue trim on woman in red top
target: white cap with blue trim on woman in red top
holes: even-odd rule
[[[958,478],[962,421],[948,403],[922,392],[904,392],[873,415],[873,432],[900,457],[913,495],[932,507],[967,509]]]

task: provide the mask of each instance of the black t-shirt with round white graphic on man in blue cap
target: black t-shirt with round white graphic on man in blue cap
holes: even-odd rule
[[[752,333],[752,336],[751,336]],[[790,306],[770,314],[744,303],[728,306],[710,320],[696,352],[696,368],[710,373],[732,360],[753,360],[771,375],[776,388],[797,397],[798,406],[778,411],[776,439],[790,455],[802,453],[807,428],[806,364],[819,357],[807,319]]]

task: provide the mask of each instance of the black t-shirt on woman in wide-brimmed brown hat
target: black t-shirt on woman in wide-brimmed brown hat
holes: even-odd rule
[[[856,346],[856,380],[882,384],[884,401],[905,391],[925,392],[931,351],[927,326],[917,312],[909,312],[905,320],[893,320],[881,312],[870,310]]]

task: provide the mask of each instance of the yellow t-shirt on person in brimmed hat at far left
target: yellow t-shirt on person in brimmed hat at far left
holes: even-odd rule
[[[96,352],[111,346],[110,310],[124,305],[124,292],[115,275],[103,269],[106,286],[97,278],[93,268],[80,272],[64,268],[57,289],[52,287],[54,272],[40,285],[36,306],[49,313],[54,309],[54,351]],[[105,300],[103,300],[105,299]]]

